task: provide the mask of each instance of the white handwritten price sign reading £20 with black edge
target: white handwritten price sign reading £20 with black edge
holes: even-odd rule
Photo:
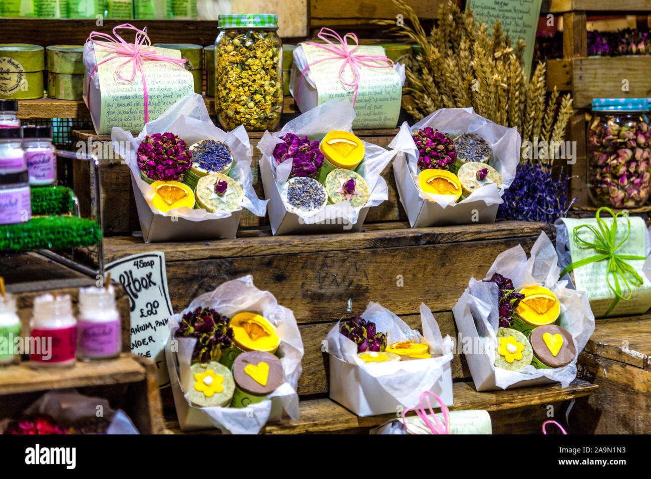
[[[126,289],[131,309],[131,351],[156,363],[158,384],[169,385],[165,343],[173,314],[167,289],[165,254],[127,256],[106,266],[111,278]]]

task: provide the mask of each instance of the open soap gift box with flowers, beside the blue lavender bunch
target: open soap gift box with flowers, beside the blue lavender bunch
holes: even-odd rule
[[[406,122],[389,148],[411,227],[492,223],[519,164],[521,139],[472,108],[434,111]]]

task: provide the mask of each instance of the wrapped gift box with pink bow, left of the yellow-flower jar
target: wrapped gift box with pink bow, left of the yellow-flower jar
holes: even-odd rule
[[[135,43],[118,29],[135,31]],[[118,25],[113,35],[93,32],[84,46],[83,100],[96,134],[111,134],[114,126],[138,133],[192,93],[194,78],[179,50],[151,46],[146,28]]]

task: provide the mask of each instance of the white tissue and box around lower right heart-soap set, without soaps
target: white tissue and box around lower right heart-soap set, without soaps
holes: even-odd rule
[[[529,259],[519,245],[499,254],[484,280],[490,280],[495,272],[510,278],[516,290],[530,285],[542,285],[556,295],[561,304],[557,324],[572,334],[578,357],[594,331],[594,315],[583,291],[571,289],[567,281],[558,280],[561,269],[549,237],[544,232],[540,233],[531,248]],[[463,351],[478,391],[556,382],[566,388],[574,381],[577,358],[562,368],[536,370],[531,365],[519,371],[495,368],[499,327],[498,291],[495,283],[471,278],[464,294],[452,308],[452,313],[463,338]]]

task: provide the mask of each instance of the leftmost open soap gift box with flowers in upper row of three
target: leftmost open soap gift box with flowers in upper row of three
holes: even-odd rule
[[[111,139],[132,173],[145,242],[234,238],[242,208],[265,214],[246,130],[217,128],[199,94],[178,100],[137,138],[116,127]]]

